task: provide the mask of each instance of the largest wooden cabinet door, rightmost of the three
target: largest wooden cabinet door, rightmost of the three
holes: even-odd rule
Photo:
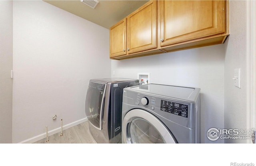
[[[224,33],[225,4],[222,0],[160,1],[160,46]]]

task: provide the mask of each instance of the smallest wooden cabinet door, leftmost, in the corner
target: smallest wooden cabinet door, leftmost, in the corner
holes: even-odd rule
[[[126,18],[110,27],[110,58],[126,55]]]

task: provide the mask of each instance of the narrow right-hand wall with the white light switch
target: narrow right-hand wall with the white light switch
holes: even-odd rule
[[[230,1],[230,36],[225,43],[225,129],[248,130],[246,123],[246,1]],[[234,86],[234,69],[241,68],[241,88]],[[248,140],[226,139],[225,143]]]

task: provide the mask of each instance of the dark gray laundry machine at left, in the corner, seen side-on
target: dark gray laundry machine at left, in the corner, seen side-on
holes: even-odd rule
[[[121,143],[122,94],[139,85],[130,78],[100,78],[89,81],[85,114],[89,131],[97,143]]]

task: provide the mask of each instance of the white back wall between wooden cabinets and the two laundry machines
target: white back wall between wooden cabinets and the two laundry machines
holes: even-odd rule
[[[212,143],[206,137],[208,129],[224,127],[224,48],[213,45],[112,60],[112,77],[137,78],[138,72],[150,72],[150,83],[201,88],[201,142]]]

